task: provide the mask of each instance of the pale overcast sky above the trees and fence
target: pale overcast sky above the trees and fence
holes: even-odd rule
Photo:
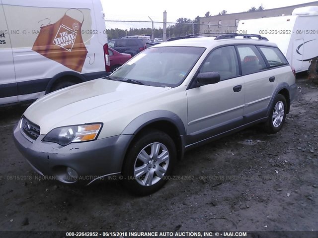
[[[101,0],[106,20],[150,21],[150,17],[153,21],[162,21],[163,11],[166,11],[168,22],[175,22],[176,19],[181,17],[193,20],[196,16],[203,17],[207,11],[210,11],[211,15],[217,15],[222,10],[227,10],[227,13],[243,12],[252,6],[257,8],[261,4],[265,9],[271,9],[312,1],[313,0],[119,0],[116,4],[111,5],[108,0]],[[193,2],[195,2],[195,4]],[[138,24],[108,23],[108,26],[106,24],[107,29],[116,27],[129,28],[135,27],[135,25]],[[144,27],[151,27],[151,23],[145,23]]]

